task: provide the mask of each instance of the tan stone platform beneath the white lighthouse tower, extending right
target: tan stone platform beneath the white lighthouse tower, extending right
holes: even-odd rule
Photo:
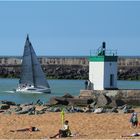
[[[120,106],[122,103],[129,105],[140,105],[140,89],[119,89],[119,90],[81,90],[80,98],[98,98],[99,106]],[[110,99],[109,99],[110,98]]]

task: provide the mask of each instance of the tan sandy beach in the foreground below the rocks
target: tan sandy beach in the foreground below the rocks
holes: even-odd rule
[[[138,128],[131,128],[129,118],[131,114],[121,113],[66,113],[72,133],[76,134],[68,139],[120,139],[121,135],[140,132]],[[138,113],[138,117],[140,117]],[[37,132],[10,132],[10,130],[35,126]],[[61,115],[46,113],[42,115],[4,115],[0,114],[1,139],[48,139],[61,128]],[[136,137],[140,138],[140,137]]]

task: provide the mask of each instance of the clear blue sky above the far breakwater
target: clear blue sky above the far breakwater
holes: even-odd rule
[[[29,34],[39,56],[108,50],[140,56],[140,1],[0,1],[0,56],[21,56]]]

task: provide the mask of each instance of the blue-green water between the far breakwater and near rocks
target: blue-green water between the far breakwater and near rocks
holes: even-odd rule
[[[0,101],[13,101],[17,104],[36,103],[41,100],[47,103],[53,96],[63,96],[66,93],[78,96],[81,89],[84,89],[85,80],[48,80],[51,87],[51,94],[37,93],[16,93],[19,79],[0,78]],[[118,80],[119,89],[140,89],[140,81],[122,81]]]

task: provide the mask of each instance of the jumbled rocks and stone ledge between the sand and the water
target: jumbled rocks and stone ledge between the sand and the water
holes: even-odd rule
[[[1,100],[3,114],[38,115],[48,112],[93,112],[93,113],[132,113],[132,105],[139,105],[140,90],[81,90],[79,96],[65,94],[52,97],[49,102],[37,100],[35,103],[16,104]],[[38,110],[40,106],[40,110]],[[42,107],[41,107],[42,106]]]

